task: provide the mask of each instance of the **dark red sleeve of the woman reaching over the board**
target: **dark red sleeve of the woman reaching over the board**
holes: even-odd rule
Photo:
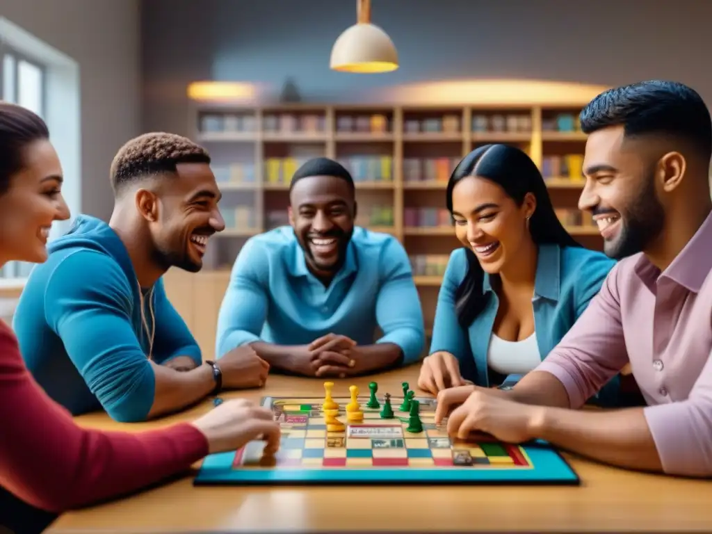
[[[23,501],[61,513],[136,491],[207,453],[187,423],[136,434],[82,429],[34,381],[0,321],[0,486]]]

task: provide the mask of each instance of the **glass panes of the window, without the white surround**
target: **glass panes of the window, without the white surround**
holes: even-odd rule
[[[2,50],[1,100],[19,104],[45,118],[45,75],[43,67],[30,61],[17,51]],[[0,278],[27,278],[31,263],[13,261],[0,269]]]

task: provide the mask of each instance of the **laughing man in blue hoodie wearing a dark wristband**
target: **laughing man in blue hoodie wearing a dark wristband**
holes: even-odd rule
[[[161,280],[172,266],[199,271],[209,237],[225,227],[208,153],[150,133],[119,150],[110,174],[109,224],[79,216],[21,295],[14,328],[32,375],[72,414],[103,407],[121,422],[182,409],[221,386],[263,384],[268,365],[249,347],[203,364]]]

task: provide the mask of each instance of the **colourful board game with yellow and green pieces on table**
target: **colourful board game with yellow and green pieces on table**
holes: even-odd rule
[[[244,484],[568,484],[579,478],[550,444],[503,444],[491,436],[465,441],[435,424],[435,399],[403,397],[265,397],[282,429],[280,450],[262,441],[211,454],[194,479],[200,485]]]

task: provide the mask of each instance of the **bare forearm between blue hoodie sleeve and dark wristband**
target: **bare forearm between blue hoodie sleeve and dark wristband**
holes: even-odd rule
[[[177,371],[152,363],[155,376],[153,405],[148,417],[158,417],[194,404],[215,389],[213,370],[200,365],[193,370]]]

